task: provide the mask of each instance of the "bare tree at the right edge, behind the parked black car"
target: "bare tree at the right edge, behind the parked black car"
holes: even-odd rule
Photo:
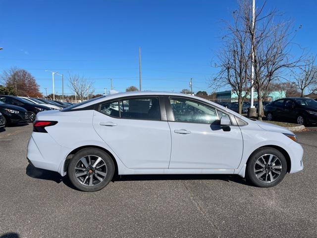
[[[301,92],[301,97],[317,93],[317,66],[314,65],[316,56],[304,60],[304,65],[293,72],[295,82]]]

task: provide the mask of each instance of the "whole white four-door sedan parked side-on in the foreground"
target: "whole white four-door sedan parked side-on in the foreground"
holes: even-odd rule
[[[303,169],[296,141],[202,98],[127,92],[38,113],[27,158],[83,191],[102,189],[114,173],[229,174],[271,187]]]

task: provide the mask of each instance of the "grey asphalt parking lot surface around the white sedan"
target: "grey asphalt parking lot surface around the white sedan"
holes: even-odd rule
[[[122,176],[93,193],[28,165],[31,131],[0,129],[1,238],[316,237],[316,131],[297,133],[304,171],[272,188],[236,176]]]

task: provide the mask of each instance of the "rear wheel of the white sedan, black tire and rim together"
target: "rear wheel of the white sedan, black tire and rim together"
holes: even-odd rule
[[[103,164],[105,165],[102,166]],[[97,148],[86,148],[73,156],[68,165],[67,174],[77,189],[95,192],[104,188],[111,181],[114,170],[113,160],[105,151]],[[81,174],[82,176],[80,176]]]

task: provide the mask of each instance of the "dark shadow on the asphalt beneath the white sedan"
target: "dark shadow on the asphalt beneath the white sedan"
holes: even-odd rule
[[[68,179],[68,176],[60,176],[57,172],[35,168],[29,164],[26,167],[26,175],[34,179],[52,180],[56,183],[63,182],[66,186],[75,188]],[[120,181],[148,181],[148,180],[222,180],[227,182],[236,182],[248,186],[253,186],[237,175],[115,175],[112,182]]]

